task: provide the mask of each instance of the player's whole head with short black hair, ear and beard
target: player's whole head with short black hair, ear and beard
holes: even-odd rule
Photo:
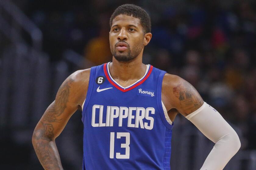
[[[116,60],[130,62],[142,55],[151,37],[148,13],[133,4],[119,6],[110,18],[110,50]]]

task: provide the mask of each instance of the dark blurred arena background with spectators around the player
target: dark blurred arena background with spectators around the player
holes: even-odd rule
[[[0,0],[0,169],[43,169],[31,137],[61,83],[112,60],[109,18],[133,3],[151,17],[145,64],[190,82],[240,137],[226,170],[256,169],[256,1]],[[56,139],[64,169],[82,169],[81,111]],[[198,170],[214,143],[180,114],[171,167]]]

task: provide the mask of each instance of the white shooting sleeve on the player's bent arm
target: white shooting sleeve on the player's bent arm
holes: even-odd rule
[[[236,131],[206,102],[186,118],[215,143],[200,170],[222,170],[241,146]]]

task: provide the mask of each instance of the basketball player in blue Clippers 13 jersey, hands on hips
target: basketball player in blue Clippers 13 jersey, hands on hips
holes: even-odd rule
[[[83,169],[170,169],[178,113],[215,143],[201,170],[223,169],[240,140],[190,83],[142,63],[152,37],[148,14],[121,5],[110,27],[112,62],[71,74],[34,130],[33,146],[43,167],[63,169],[55,138],[82,107]]]

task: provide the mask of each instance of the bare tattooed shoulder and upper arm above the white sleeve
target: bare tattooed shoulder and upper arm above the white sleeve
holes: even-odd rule
[[[204,103],[197,90],[183,78],[165,73],[162,82],[162,98],[183,116],[194,112]],[[171,108],[170,108],[171,109]]]

